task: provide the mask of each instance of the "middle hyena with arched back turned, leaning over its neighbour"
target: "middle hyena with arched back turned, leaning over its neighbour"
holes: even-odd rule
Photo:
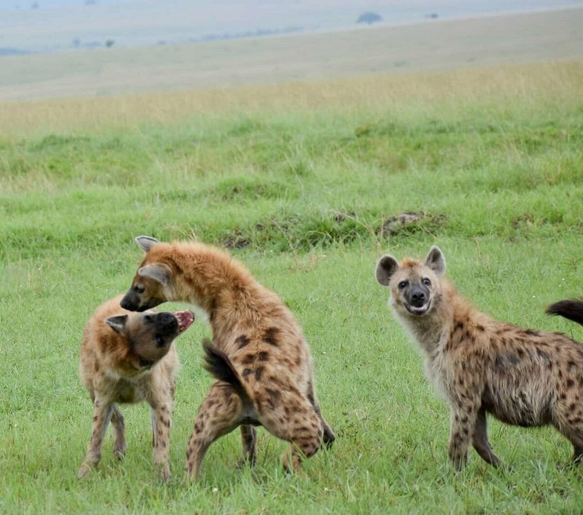
[[[310,348],[290,310],[239,262],[199,243],[136,238],[145,251],[121,306],[142,311],[167,300],[206,311],[213,331],[207,365],[218,381],[203,401],[188,443],[185,471],[196,478],[206,450],[241,426],[243,460],[255,461],[253,426],[291,443],[283,464],[297,470],[334,434],[314,390]],[[291,456],[291,463],[290,463]]]

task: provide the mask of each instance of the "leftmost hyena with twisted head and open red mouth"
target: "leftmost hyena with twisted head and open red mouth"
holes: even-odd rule
[[[178,370],[173,342],[192,324],[194,314],[131,313],[120,308],[121,299],[120,295],[98,307],[83,333],[79,370],[93,402],[93,428],[77,475],[85,477],[99,464],[110,420],[115,430],[114,454],[121,458],[125,453],[124,416],[117,403],[147,401],[152,408],[154,464],[166,480]]]

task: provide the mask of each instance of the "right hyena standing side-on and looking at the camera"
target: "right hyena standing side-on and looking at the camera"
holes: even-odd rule
[[[399,322],[417,341],[426,372],[451,408],[449,458],[461,469],[468,447],[497,467],[486,414],[519,426],[552,424],[583,458],[583,346],[563,334],[522,329],[477,311],[442,278],[445,260],[432,247],[426,260],[391,255],[376,275],[391,289]]]

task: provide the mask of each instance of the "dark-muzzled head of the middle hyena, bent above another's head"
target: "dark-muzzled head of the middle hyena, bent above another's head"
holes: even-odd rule
[[[136,243],[146,255],[120,305],[128,311],[145,311],[167,300],[173,300],[172,274],[166,265],[150,260],[150,250],[160,243],[158,240],[149,236],[138,236]]]

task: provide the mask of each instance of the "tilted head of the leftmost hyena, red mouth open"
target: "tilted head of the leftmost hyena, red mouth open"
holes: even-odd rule
[[[194,319],[192,311],[146,311],[109,317],[105,322],[115,332],[125,336],[128,360],[136,368],[149,369],[166,356],[174,338],[186,331]]]

